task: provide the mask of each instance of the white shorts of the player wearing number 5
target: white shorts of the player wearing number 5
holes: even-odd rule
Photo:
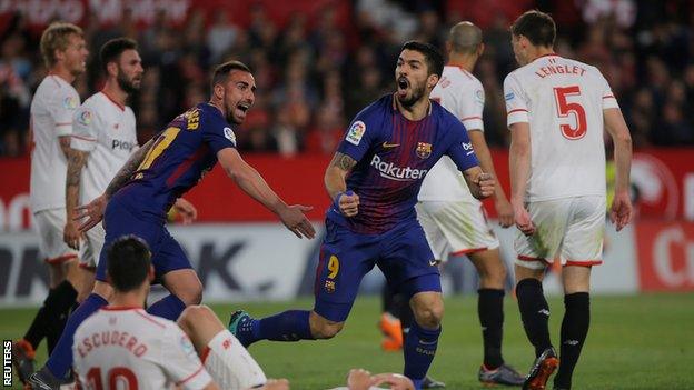
[[[558,256],[562,266],[603,262],[605,197],[575,197],[529,202],[526,208],[536,231],[526,237],[516,230],[515,263],[543,269]]]

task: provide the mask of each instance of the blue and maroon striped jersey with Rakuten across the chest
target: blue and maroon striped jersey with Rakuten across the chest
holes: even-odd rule
[[[338,151],[357,161],[346,181],[359,196],[359,212],[346,218],[331,207],[327,218],[359,233],[416,220],[422,181],[442,156],[459,170],[478,164],[465,127],[450,112],[432,102],[426,117],[410,121],[390,94],[357,114]]]

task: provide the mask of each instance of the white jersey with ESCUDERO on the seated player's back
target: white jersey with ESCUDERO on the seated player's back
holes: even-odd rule
[[[212,380],[188,336],[141,308],[102,308],[77,328],[72,353],[82,389],[192,390]]]

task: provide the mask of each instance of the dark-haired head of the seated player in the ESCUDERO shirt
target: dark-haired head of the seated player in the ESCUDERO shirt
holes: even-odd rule
[[[108,248],[107,272],[113,289],[119,292],[136,290],[147,279],[151,253],[147,242],[137,236],[123,236]]]

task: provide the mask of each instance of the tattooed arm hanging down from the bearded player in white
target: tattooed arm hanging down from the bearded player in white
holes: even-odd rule
[[[75,221],[77,203],[79,202],[79,187],[82,177],[82,168],[89,157],[89,152],[70,148],[68,152],[68,173],[66,177],[66,226],[62,230],[62,240],[68,247],[79,249],[81,233]]]

